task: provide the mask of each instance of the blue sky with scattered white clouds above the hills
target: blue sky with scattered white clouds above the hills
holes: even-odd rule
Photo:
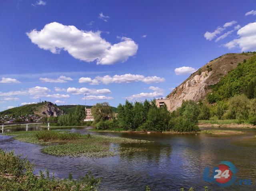
[[[208,61],[256,51],[254,0],[1,0],[0,110],[168,95]]]

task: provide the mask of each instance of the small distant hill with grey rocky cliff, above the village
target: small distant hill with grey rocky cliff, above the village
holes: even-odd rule
[[[28,104],[24,106],[19,106],[15,108],[11,108],[8,110],[4,110],[0,112],[0,115],[14,115],[14,116],[24,116],[26,114],[36,114],[41,117],[49,117],[49,116],[59,116],[64,114],[60,108],[56,104],[52,102],[41,102],[36,104]]]

